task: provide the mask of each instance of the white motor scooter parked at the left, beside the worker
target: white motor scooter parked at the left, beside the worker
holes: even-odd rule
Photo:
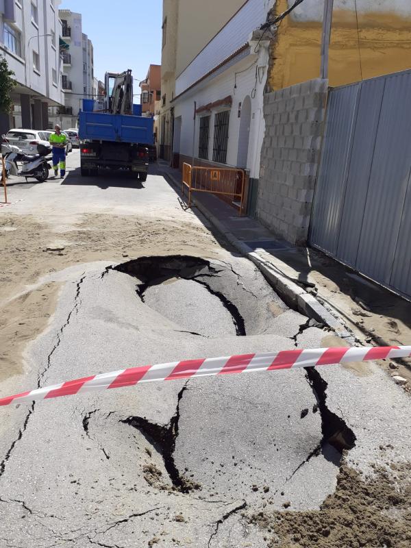
[[[1,152],[5,161],[5,176],[16,175],[18,177],[34,177],[38,182],[42,183],[49,177],[51,158],[47,158],[51,154],[51,145],[37,145],[37,154],[29,155],[23,153],[21,149],[15,145],[10,145],[5,136],[1,143]],[[21,169],[18,169],[17,162],[21,162]]]

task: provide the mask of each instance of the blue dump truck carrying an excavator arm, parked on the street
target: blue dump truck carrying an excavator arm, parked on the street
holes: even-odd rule
[[[83,100],[79,112],[80,166],[83,176],[99,170],[132,171],[147,179],[153,119],[133,105],[132,71],[105,74],[103,101]]]

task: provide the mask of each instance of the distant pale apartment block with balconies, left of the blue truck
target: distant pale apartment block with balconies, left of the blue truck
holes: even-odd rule
[[[92,42],[84,34],[82,14],[71,10],[59,10],[62,22],[62,38],[70,48],[62,57],[62,88],[64,107],[51,115],[63,128],[77,127],[77,116],[82,99],[93,97],[94,60]]]

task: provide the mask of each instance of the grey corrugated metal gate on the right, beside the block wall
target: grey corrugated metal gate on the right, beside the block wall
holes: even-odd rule
[[[310,243],[411,297],[411,71],[329,92]]]

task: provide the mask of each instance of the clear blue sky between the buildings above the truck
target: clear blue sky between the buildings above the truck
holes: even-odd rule
[[[162,0],[63,0],[59,8],[82,14],[98,79],[126,69],[144,79],[150,63],[161,63]]]

